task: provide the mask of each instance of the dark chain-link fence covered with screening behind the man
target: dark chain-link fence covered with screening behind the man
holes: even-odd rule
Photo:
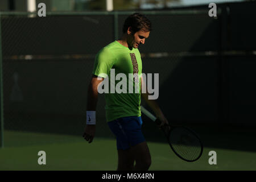
[[[242,112],[237,113],[240,105],[233,103],[236,97],[255,107],[253,91],[245,96],[230,89],[244,83],[233,77],[240,68],[247,74],[243,78],[255,82],[253,71],[246,71],[255,67],[255,46],[248,46],[255,37],[248,39],[247,47],[233,44],[241,34],[234,28],[250,25],[243,22],[246,16],[234,21],[238,16],[229,8],[231,13],[223,7],[217,18],[209,17],[208,10],[143,12],[153,25],[150,38],[139,48],[143,72],[159,73],[158,103],[171,121],[254,123],[255,116],[237,118]],[[44,18],[1,13],[2,129],[82,135],[94,56],[121,36],[122,24],[132,13],[48,13]],[[113,137],[104,106],[100,95],[97,136]],[[247,114],[253,116],[250,108]],[[152,126],[145,126],[146,135]]]

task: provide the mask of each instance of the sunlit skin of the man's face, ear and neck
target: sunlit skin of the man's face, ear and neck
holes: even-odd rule
[[[141,44],[145,43],[145,39],[148,38],[150,31],[139,30],[133,34],[131,27],[128,28],[127,34],[123,35],[120,40],[117,40],[125,47],[138,48]]]

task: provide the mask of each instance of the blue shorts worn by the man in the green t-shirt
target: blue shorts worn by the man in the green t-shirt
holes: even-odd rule
[[[108,122],[110,130],[117,138],[117,150],[127,150],[145,141],[141,131],[141,117],[131,116]]]

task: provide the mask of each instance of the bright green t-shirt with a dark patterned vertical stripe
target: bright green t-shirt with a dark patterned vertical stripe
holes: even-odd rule
[[[115,89],[115,93],[110,93],[110,80],[113,78],[110,77],[110,69],[114,69],[115,76],[117,76],[118,73],[126,75],[126,86],[125,84],[122,86],[119,84],[119,88],[127,90],[126,93],[117,93]],[[109,79],[109,93],[105,93],[107,122],[121,117],[141,116],[141,78],[133,78],[133,75],[130,75],[129,77],[129,73],[137,73],[138,76],[141,76],[142,61],[139,50],[137,48],[130,50],[116,40],[108,44],[108,46],[105,46],[97,53],[94,61],[93,75],[106,78],[106,76],[102,76],[102,73],[108,75]],[[122,78],[119,80],[115,78],[115,86],[122,80]],[[129,93],[129,81],[132,83],[131,85],[133,85],[132,93]],[[136,81],[137,85],[135,86]],[[135,92],[135,89],[139,91]]]

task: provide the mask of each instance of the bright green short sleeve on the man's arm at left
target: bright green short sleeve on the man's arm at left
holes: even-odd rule
[[[102,48],[94,60],[93,75],[106,78],[114,64],[113,54],[108,48]]]

